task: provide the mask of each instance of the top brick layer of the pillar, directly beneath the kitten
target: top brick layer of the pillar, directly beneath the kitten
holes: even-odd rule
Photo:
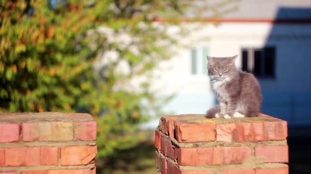
[[[207,119],[204,114],[164,115],[159,126],[178,142],[267,141],[287,137],[287,122],[265,114],[241,119]]]

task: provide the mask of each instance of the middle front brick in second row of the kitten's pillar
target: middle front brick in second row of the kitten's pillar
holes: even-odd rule
[[[252,150],[250,147],[215,147],[213,149],[213,165],[241,164],[250,159]]]

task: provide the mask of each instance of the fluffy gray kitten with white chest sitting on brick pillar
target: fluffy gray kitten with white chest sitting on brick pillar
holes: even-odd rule
[[[260,112],[260,85],[253,74],[236,69],[232,57],[210,57],[208,76],[220,106],[207,111],[207,118],[255,117]]]

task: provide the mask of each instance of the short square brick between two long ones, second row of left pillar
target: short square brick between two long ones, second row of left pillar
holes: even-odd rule
[[[58,165],[58,147],[41,147],[41,165]]]

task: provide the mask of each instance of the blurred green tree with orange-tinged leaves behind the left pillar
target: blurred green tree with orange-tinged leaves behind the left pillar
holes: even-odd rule
[[[150,70],[175,43],[152,21],[177,22],[190,2],[1,1],[0,112],[89,112],[99,157],[134,146],[139,123],[161,112]]]

